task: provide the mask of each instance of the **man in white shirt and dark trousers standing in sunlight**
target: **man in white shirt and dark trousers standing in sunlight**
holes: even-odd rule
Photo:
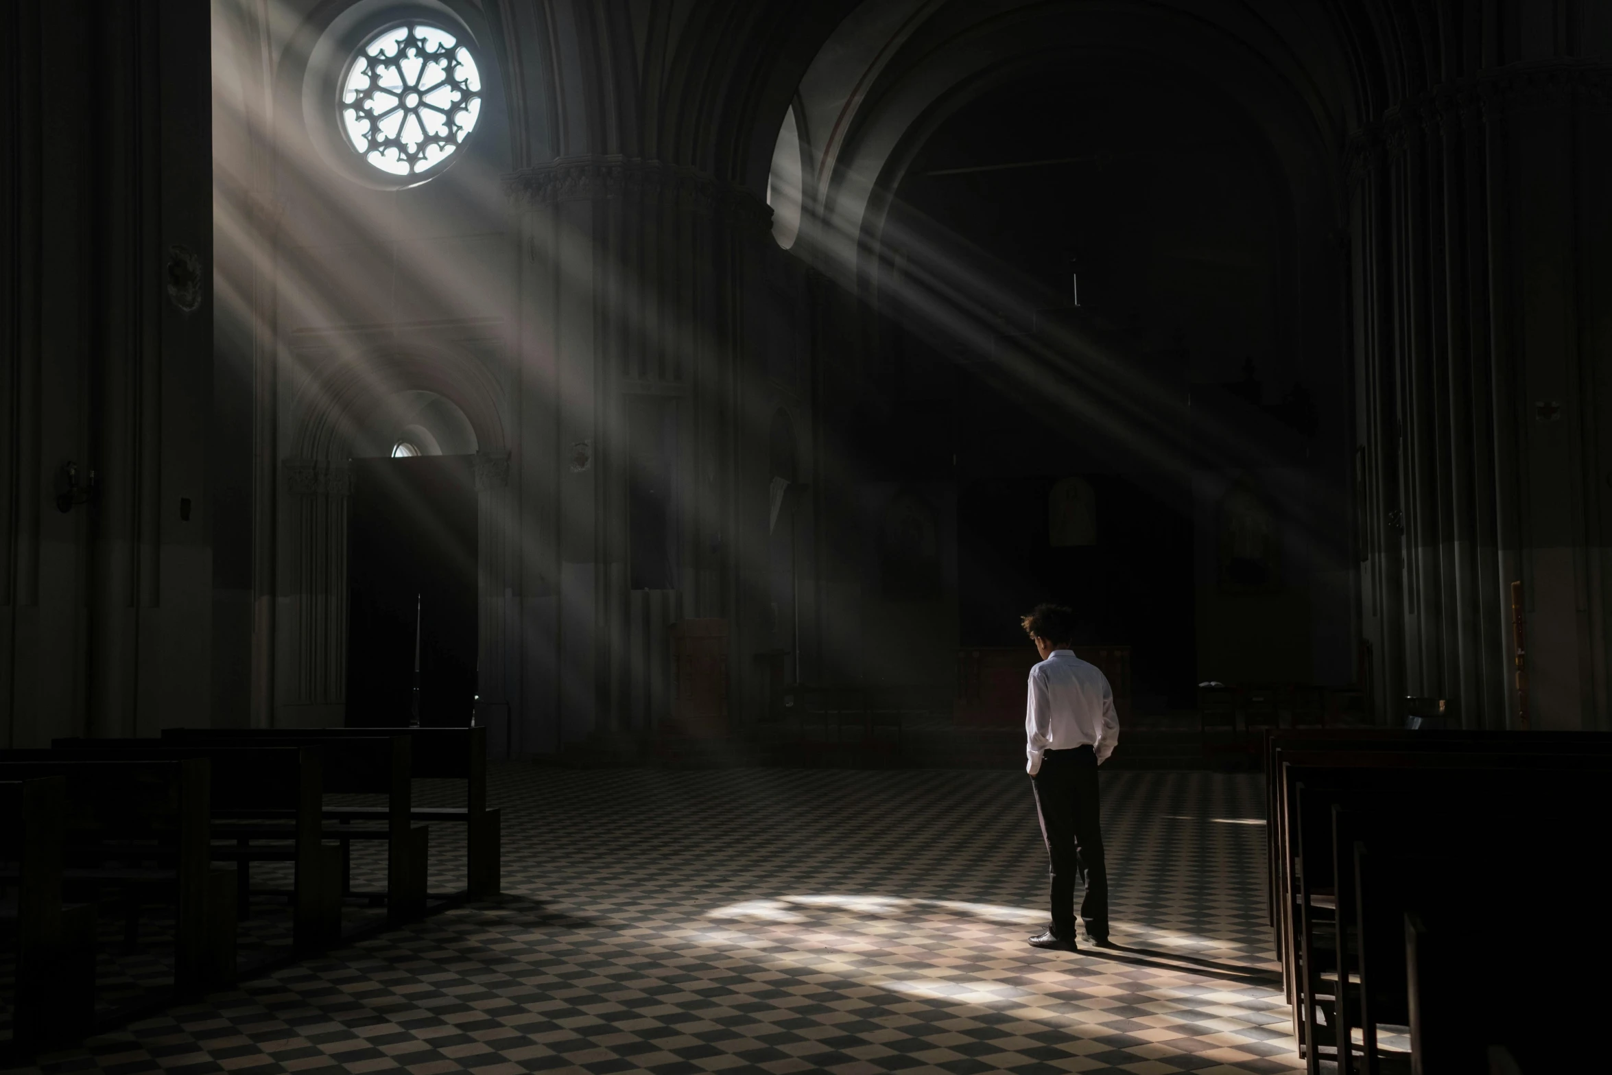
[[[1035,788],[1053,875],[1053,924],[1030,943],[1075,951],[1075,878],[1085,874],[1080,917],[1086,940],[1107,944],[1107,864],[1098,816],[1098,766],[1119,741],[1114,690],[1095,664],[1075,656],[1075,614],[1038,604],[1022,621],[1041,662],[1030,669],[1024,732],[1025,770]]]

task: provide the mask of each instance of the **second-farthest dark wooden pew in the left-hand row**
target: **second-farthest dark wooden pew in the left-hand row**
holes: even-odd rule
[[[166,741],[182,746],[213,745],[242,746],[308,746],[322,757],[324,791],[327,795],[358,793],[384,795],[387,804],[372,807],[364,820],[380,822],[377,828],[326,830],[326,836],[348,840],[387,841],[387,917],[405,922],[426,911],[426,870],[430,849],[430,830],[411,824],[413,738],[408,735],[322,735],[322,733],[255,733],[243,730],[168,728]],[[326,820],[340,820],[345,811],[321,804]],[[264,822],[289,820],[285,811],[237,809],[229,811],[237,824],[226,825],[221,833],[231,836],[269,838],[282,832]],[[284,827],[280,838],[290,836]]]

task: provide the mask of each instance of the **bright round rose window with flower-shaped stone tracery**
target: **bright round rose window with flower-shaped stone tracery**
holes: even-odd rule
[[[463,145],[482,111],[482,77],[453,34],[409,23],[376,34],[342,79],[342,134],[374,168],[424,176]]]

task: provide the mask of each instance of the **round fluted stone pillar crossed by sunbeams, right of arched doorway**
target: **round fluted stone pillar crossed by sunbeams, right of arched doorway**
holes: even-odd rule
[[[735,527],[750,521],[737,514],[733,480],[745,451],[766,458],[766,422],[750,429],[745,414],[743,293],[754,263],[743,250],[766,239],[766,210],[693,169],[619,156],[530,168],[506,190],[522,274],[511,740],[519,753],[551,753],[645,730],[634,685],[664,667],[645,641],[664,633],[635,614],[740,609]],[[677,429],[677,591],[648,603],[630,588],[627,540],[625,400],[635,393],[666,398]],[[764,533],[766,513],[758,519]]]

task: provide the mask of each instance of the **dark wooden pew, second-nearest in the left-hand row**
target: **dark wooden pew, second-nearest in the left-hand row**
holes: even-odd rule
[[[64,885],[169,896],[174,988],[189,993],[234,980],[235,877],[211,864],[208,762],[0,762],[0,780],[35,777],[61,777],[66,788]]]

